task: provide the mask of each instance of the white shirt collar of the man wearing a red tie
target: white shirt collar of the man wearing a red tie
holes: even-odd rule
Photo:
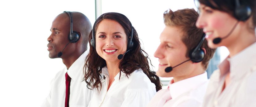
[[[83,76],[81,75],[81,71],[83,71],[84,65],[85,65],[85,57],[88,55],[88,51],[86,50],[80,57],[76,59],[76,61],[67,69],[65,67],[65,72],[68,72],[68,76],[70,76],[71,79],[81,79],[83,80]]]

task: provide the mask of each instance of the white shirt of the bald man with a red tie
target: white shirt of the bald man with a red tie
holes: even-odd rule
[[[71,77],[69,107],[86,107],[92,96],[92,90],[86,87],[83,66],[88,51],[85,51],[70,67],[59,71],[51,82],[50,93],[41,107],[64,107],[65,106],[65,73]]]

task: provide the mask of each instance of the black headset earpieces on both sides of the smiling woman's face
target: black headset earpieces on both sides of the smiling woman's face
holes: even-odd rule
[[[92,29],[92,39],[91,39],[91,42],[90,42],[90,44],[91,44],[91,46],[93,46],[93,48],[95,48],[96,49],[96,41],[95,41],[95,35],[94,35],[94,28],[95,28],[95,26],[96,26],[96,22],[98,21],[98,19],[94,22],[94,24],[93,24],[93,29]],[[131,26],[132,27],[132,26]],[[133,38],[133,28],[131,28],[132,30],[131,30],[131,36],[130,36],[130,38],[129,38],[129,36],[128,36],[128,40],[129,40],[129,42],[128,42],[128,44],[127,44],[127,50],[128,49],[131,49],[132,47],[133,47],[133,42],[132,42],[132,38]]]

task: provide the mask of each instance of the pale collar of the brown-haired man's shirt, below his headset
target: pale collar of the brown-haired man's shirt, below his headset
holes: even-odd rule
[[[171,82],[171,84],[169,84],[168,86],[171,98],[175,99],[186,92],[196,89],[197,87],[199,87],[207,81],[207,73],[204,72],[203,74],[188,79],[184,79],[175,83]]]

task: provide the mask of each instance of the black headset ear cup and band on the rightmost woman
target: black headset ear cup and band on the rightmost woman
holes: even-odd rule
[[[252,9],[250,6],[241,5],[239,0],[235,0],[235,18],[239,21],[247,20],[252,14]]]

